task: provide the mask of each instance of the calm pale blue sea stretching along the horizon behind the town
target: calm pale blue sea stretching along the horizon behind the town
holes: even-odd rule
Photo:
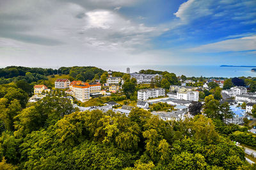
[[[220,65],[135,65],[135,66],[99,66],[104,70],[112,70],[116,72],[126,72],[126,68],[130,68],[130,72],[139,72],[140,70],[158,70],[175,73],[176,75],[186,75],[186,77],[256,77],[256,72],[251,69],[255,67],[234,67]]]

